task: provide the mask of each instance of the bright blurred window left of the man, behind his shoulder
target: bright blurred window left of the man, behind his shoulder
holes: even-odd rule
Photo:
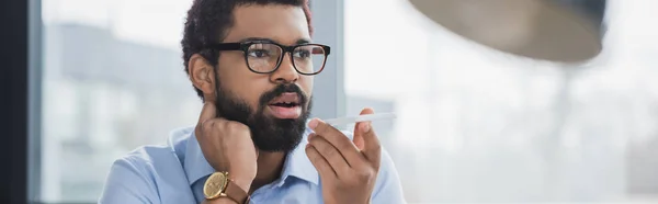
[[[43,202],[95,202],[113,160],[194,125],[201,102],[179,48],[190,5],[42,1]]]

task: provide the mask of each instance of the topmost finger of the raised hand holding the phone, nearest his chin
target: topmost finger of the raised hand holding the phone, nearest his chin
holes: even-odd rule
[[[316,135],[324,137],[329,144],[333,145],[340,154],[345,158],[351,167],[363,162],[365,158],[359,152],[359,149],[353,143],[336,127],[322,122],[319,118],[314,118],[308,123],[308,126]]]

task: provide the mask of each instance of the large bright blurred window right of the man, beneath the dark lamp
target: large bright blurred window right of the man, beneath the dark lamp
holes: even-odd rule
[[[658,201],[657,2],[610,1],[587,67],[497,54],[407,0],[344,3],[347,112],[398,115],[375,129],[408,202]]]

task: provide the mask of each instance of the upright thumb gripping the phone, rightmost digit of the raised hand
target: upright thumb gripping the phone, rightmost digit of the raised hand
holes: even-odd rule
[[[372,109],[364,109],[361,113],[373,114],[374,111]],[[366,122],[358,125],[359,133],[354,133],[354,135],[359,134],[360,137],[363,138],[363,155],[376,168],[379,168],[382,146],[379,145],[379,139],[377,138],[375,131],[372,128],[372,124]]]

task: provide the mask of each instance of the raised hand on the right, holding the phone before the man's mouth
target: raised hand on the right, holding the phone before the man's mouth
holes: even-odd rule
[[[364,109],[361,114],[372,114]],[[370,122],[354,126],[354,143],[320,120],[309,122],[310,134],[306,155],[322,180],[322,196],[328,204],[365,204],[377,179],[381,161],[379,140]]]

